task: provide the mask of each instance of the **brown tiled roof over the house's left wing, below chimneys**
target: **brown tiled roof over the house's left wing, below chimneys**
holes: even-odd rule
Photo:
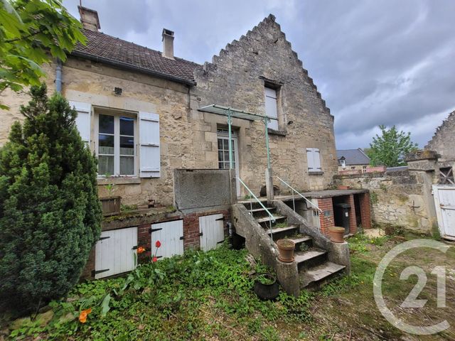
[[[157,76],[175,78],[176,81],[194,82],[194,70],[201,65],[175,58],[164,58],[161,52],[145,48],[105,33],[83,30],[87,45],[78,44],[73,55],[82,55],[100,62],[119,63],[119,67],[139,67]]]

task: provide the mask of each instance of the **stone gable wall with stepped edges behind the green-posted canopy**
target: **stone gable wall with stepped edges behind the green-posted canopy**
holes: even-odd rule
[[[218,124],[226,124],[226,118],[198,112],[198,107],[220,104],[264,114],[264,78],[281,84],[280,130],[284,134],[269,134],[274,174],[301,190],[327,188],[338,170],[333,117],[273,16],[228,44],[204,70],[196,70],[198,85],[191,90],[191,117],[196,126],[210,131],[195,139],[200,137],[198,143],[209,148],[206,155],[213,153],[211,165],[216,168],[216,129]],[[287,125],[289,121],[293,124]],[[264,124],[234,119],[232,125],[239,134],[240,178],[259,193],[267,168]],[[309,175],[306,148],[320,149],[323,175]],[[274,183],[284,189],[276,178]]]

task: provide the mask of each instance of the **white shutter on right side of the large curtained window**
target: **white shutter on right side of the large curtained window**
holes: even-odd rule
[[[159,151],[159,115],[139,112],[139,176],[159,178],[161,157]]]

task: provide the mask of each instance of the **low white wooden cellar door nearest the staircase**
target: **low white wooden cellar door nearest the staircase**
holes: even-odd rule
[[[200,249],[215,249],[225,239],[223,215],[205,215],[199,217]]]

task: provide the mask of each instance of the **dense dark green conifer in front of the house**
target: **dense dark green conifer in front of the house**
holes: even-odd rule
[[[0,149],[0,300],[24,310],[65,296],[100,236],[96,159],[77,112],[46,92],[31,87]]]

